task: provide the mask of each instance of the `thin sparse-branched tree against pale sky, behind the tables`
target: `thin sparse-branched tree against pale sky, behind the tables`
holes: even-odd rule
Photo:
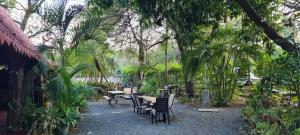
[[[160,45],[170,37],[166,37],[161,31],[162,27],[145,27],[140,21],[141,16],[128,9],[122,19],[115,25],[114,31],[110,34],[114,46],[124,48],[137,48],[138,52],[138,89],[143,84],[143,67],[145,66],[147,53],[155,46]],[[138,22],[138,23],[137,23]]]

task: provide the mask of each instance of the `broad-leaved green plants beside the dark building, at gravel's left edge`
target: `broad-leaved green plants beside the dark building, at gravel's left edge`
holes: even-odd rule
[[[49,126],[48,133],[65,135],[68,128],[74,127],[79,120],[79,110],[87,107],[87,97],[92,97],[93,91],[90,87],[73,84],[73,72],[59,68],[55,73],[47,83],[47,98],[52,106],[39,114],[37,122],[44,122],[44,127]]]

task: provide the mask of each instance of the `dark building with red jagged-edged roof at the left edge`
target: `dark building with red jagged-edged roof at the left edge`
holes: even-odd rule
[[[30,39],[0,6],[0,127],[6,123],[11,126],[18,120],[20,113],[8,109],[8,103],[20,106],[31,89],[29,86],[34,85],[30,71],[40,59],[41,54]]]

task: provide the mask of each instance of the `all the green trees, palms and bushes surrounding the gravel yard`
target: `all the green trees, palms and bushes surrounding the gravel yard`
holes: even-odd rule
[[[296,0],[90,0],[41,9],[43,2],[28,0],[24,18],[16,20],[29,37],[42,37],[44,59],[33,71],[44,78],[39,92],[49,103],[24,99],[18,122],[24,129],[66,134],[93,98],[92,88],[103,94],[123,85],[158,96],[158,89],[176,84],[186,101],[199,101],[204,89],[212,106],[247,98],[248,134],[299,134]],[[27,23],[35,14],[43,22],[37,32]],[[252,73],[261,81],[241,90],[238,82]],[[115,76],[121,81],[112,82]]]

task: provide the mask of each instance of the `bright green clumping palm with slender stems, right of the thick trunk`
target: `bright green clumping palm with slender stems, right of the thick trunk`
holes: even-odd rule
[[[230,27],[218,28],[218,32],[211,32],[210,36],[204,38],[203,34],[201,36],[202,39],[195,42],[197,46],[183,56],[184,70],[192,78],[197,72],[203,73],[204,65],[207,64],[215,105],[227,105],[232,99],[239,77],[234,68],[238,64],[257,60],[261,56],[261,47],[238,40],[239,31]]]

